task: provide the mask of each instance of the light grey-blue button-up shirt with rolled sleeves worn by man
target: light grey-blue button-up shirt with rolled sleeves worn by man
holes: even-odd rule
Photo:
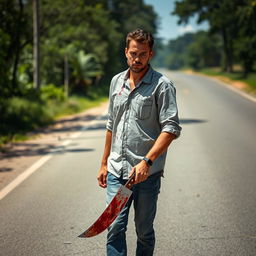
[[[176,90],[170,80],[151,67],[131,91],[129,69],[113,77],[109,93],[107,129],[112,131],[108,171],[127,179],[154,145],[161,132],[180,135]],[[150,167],[150,175],[164,170],[166,152]]]

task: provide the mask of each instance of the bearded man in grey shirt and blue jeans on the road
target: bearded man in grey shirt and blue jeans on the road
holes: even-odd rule
[[[153,44],[146,31],[129,33],[125,48],[129,69],[111,81],[105,149],[97,179],[101,187],[107,187],[107,204],[134,172],[135,185],[132,198],[108,230],[108,256],[127,255],[125,232],[132,201],[136,255],[153,255],[153,222],[166,151],[181,131],[175,88],[149,65]]]

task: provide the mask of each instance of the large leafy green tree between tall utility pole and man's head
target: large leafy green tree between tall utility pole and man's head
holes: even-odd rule
[[[106,73],[113,73],[121,35],[118,24],[110,19],[101,3],[83,1],[45,1],[43,6],[42,72],[44,83],[63,83],[64,53],[72,48],[70,58],[80,50],[94,54]],[[73,55],[73,56],[72,56]],[[74,63],[74,62],[73,62]],[[48,67],[53,67],[49,69]],[[72,69],[72,66],[71,66]],[[75,79],[73,81],[76,81]]]

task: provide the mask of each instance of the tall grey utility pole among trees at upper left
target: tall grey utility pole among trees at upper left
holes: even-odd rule
[[[34,88],[40,89],[40,46],[39,46],[39,0],[33,0],[33,81]]]

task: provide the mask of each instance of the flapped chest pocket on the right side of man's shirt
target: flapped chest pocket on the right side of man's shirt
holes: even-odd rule
[[[138,119],[144,120],[151,116],[153,100],[150,98],[138,98],[135,102],[135,116]]]

